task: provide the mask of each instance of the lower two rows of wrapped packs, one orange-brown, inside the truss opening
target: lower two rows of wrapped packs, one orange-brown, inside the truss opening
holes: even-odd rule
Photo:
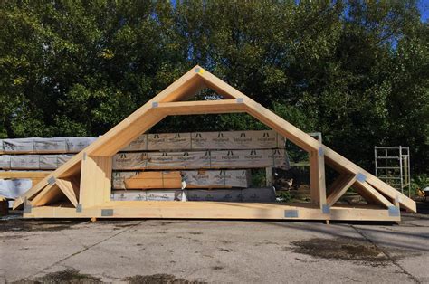
[[[248,188],[249,173],[248,170],[117,172],[112,176],[114,190],[110,198],[113,201],[275,201],[273,188]],[[177,189],[180,186],[182,189]]]

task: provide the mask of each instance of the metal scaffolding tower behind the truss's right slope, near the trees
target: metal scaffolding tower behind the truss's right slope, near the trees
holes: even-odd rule
[[[376,176],[404,194],[411,194],[410,148],[374,147]]]

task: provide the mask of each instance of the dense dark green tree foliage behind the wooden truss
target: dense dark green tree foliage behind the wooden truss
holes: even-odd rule
[[[362,166],[402,145],[428,171],[428,25],[413,0],[7,0],[0,26],[0,137],[101,135],[200,64]],[[262,125],[157,129],[231,128]]]

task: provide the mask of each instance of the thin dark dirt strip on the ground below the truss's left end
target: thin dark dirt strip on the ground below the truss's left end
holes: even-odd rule
[[[81,223],[79,220],[1,220],[1,232],[61,231]]]

